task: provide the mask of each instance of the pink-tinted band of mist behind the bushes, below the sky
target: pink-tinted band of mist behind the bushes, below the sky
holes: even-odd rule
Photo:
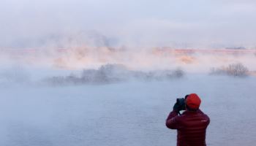
[[[1,66],[22,64],[50,69],[97,69],[105,64],[122,64],[130,70],[208,72],[212,67],[241,63],[255,69],[255,50],[182,50],[171,47],[67,47],[1,50]]]

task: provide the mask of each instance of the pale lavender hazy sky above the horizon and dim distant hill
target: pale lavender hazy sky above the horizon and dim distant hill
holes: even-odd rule
[[[115,45],[255,47],[255,7],[254,0],[0,0],[0,47],[80,32]]]

